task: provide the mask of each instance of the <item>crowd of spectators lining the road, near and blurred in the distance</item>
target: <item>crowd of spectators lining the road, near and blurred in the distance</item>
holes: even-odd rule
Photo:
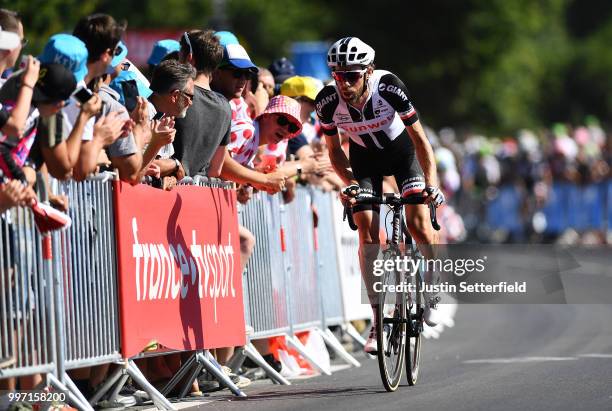
[[[284,57],[258,67],[232,33],[188,30],[157,42],[141,72],[121,41],[125,24],[94,14],[72,34],[51,36],[38,57],[20,59],[27,22],[2,9],[0,26],[0,212],[35,202],[35,185],[47,184],[49,176],[80,181],[107,170],[130,184],[164,190],[197,175],[220,177],[237,184],[243,204],[254,190],[281,192],[290,202],[299,184],[342,187],[314,114],[316,95],[329,79],[298,76]],[[418,107],[418,96],[415,101]],[[612,136],[595,118],[505,138],[450,128],[428,129],[427,135],[449,199],[440,211],[447,242],[534,239],[541,230],[533,217],[553,183],[610,178]],[[386,183],[387,190],[398,191],[392,180]],[[514,239],[483,229],[487,201],[508,185],[526,193],[521,215],[528,227]],[[50,194],[49,202],[63,211],[70,207],[62,196]],[[605,242],[605,235],[597,241]],[[257,244],[244,227],[240,242],[244,270]],[[265,344],[258,348],[266,353]],[[232,353],[218,349],[215,355],[224,365]],[[164,358],[143,360],[152,382],[180,367],[180,355]],[[73,378],[91,392],[107,372],[108,366],[75,370]],[[231,377],[239,386],[249,383]],[[37,382],[0,380],[0,389]],[[202,376],[192,394],[201,395],[211,383]]]

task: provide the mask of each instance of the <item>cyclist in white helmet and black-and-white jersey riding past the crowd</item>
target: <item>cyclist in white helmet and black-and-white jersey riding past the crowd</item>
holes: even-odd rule
[[[350,201],[349,193],[381,195],[383,176],[394,176],[402,196],[422,194],[427,203],[437,207],[445,199],[438,188],[434,153],[408,90],[395,74],[375,70],[373,63],[374,49],[357,37],[335,42],[327,53],[335,81],[319,92],[315,102],[332,165],[347,184],[342,197]],[[350,139],[348,158],[340,133]],[[374,310],[372,265],[379,252],[379,209],[372,205],[353,207],[359,227],[361,272]],[[405,216],[419,250],[425,258],[433,258],[436,236],[428,206],[407,205]],[[426,306],[425,320],[435,325],[430,310],[433,302]],[[378,351],[375,324],[365,351]]]

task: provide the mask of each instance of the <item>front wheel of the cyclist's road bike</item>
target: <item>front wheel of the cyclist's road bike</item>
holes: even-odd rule
[[[385,259],[394,258],[395,253],[385,253]],[[382,286],[402,284],[403,273],[395,270],[385,272],[380,281]],[[378,368],[387,391],[395,391],[402,379],[406,354],[406,293],[378,293],[376,310],[376,339],[378,344]]]

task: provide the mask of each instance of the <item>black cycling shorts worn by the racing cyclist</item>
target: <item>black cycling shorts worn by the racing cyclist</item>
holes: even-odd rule
[[[419,164],[414,145],[404,131],[384,149],[367,149],[351,141],[349,144],[349,161],[353,175],[362,190],[374,195],[382,195],[384,176],[395,177],[402,196],[419,194],[425,189],[425,177]],[[354,212],[378,209],[372,204],[360,204]]]

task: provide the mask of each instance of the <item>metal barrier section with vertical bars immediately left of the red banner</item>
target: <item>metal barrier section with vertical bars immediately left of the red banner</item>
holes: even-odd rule
[[[72,226],[57,235],[66,369],[121,360],[112,187],[99,175],[62,183]]]

